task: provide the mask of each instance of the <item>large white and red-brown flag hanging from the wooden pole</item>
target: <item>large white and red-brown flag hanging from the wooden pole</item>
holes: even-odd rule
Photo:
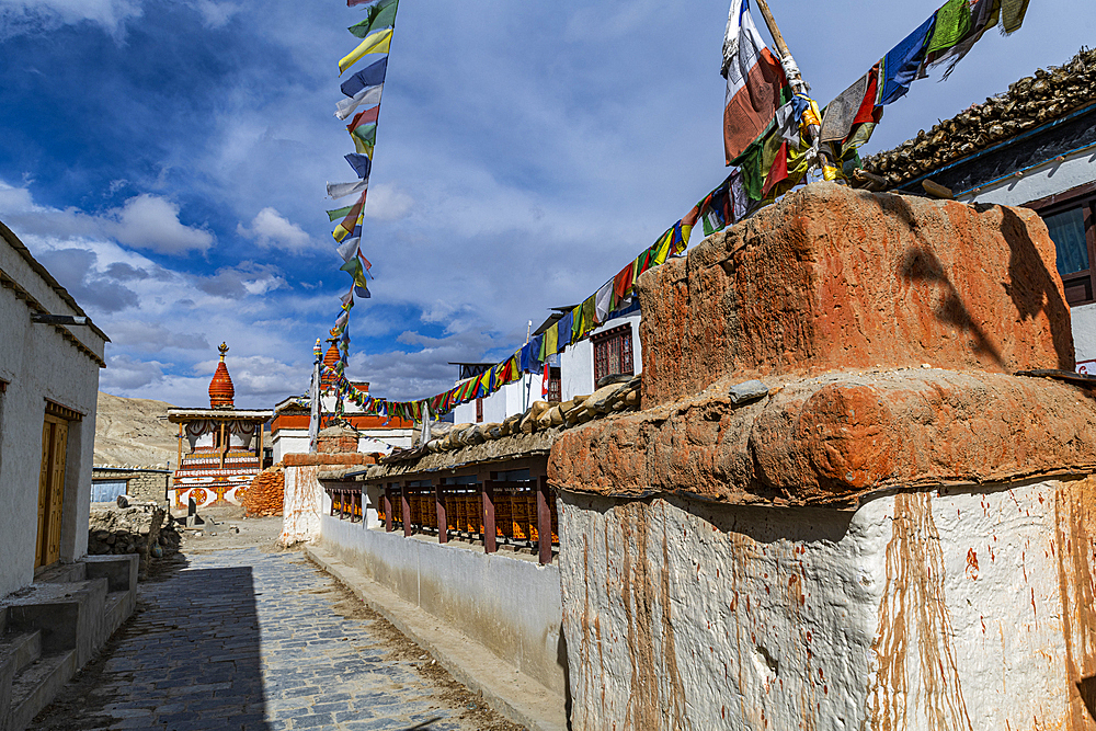
[[[765,47],[750,15],[750,0],[731,2],[727,38],[737,38],[724,39],[723,45],[723,149],[727,164],[733,164],[768,127],[790,92],[780,61]]]

